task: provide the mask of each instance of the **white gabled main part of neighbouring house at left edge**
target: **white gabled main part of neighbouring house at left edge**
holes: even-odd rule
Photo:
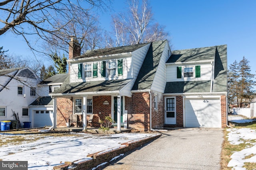
[[[37,85],[42,80],[28,67],[0,70],[0,121],[15,120],[21,125],[29,122],[28,105],[38,97]]]

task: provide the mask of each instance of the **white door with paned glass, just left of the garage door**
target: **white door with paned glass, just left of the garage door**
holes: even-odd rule
[[[165,98],[165,124],[176,124],[176,100],[175,97]]]

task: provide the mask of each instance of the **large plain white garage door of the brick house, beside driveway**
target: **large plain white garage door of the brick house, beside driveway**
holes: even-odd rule
[[[185,99],[185,127],[221,128],[219,99]]]

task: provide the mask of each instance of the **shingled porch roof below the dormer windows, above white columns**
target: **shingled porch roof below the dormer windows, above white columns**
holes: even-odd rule
[[[102,80],[90,82],[69,83],[69,76],[58,90],[54,90],[51,96],[70,96],[71,94],[100,95],[113,92],[120,92],[132,79],[124,80]]]

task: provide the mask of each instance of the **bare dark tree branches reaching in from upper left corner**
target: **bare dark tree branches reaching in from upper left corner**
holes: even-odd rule
[[[108,2],[110,0],[4,0],[0,2],[0,22],[3,23],[0,35],[12,30],[14,34],[22,35],[33,50],[36,49],[29,41],[30,35],[44,41],[62,39],[67,43],[65,36],[61,36],[63,30],[78,21],[80,14],[90,16],[92,8],[105,9]]]

